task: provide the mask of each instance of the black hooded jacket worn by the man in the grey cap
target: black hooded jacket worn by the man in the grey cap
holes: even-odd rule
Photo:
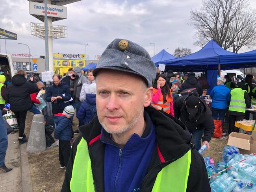
[[[146,107],[145,110],[156,127],[156,141],[163,158],[166,160],[165,163],[161,163],[158,157],[157,149],[155,148],[146,173],[147,176],[144,178],[143,184],[140,188],[140,191],[150,192],[153,188],[156,176],[161,169],[176,159],[182,157],[188,150],[191,149],[193,144],[191,144],[192,137],[187,131],[186,126],[178,119],[171,117],[169,114],[158,111],[153,107]],[[89,141],[100,135],[101,129],[102,126],[96,117],[89,124],[80,127],[81,135],[76,139],[72,146],[61,192],[70,192],[69,183],[78,143],[83,137],[89,146]],[[97,192],[104,192],[104,151],[105,144],[99,139],[89,146],[93,181],[95,191]],[[187,182],[187,192],[195,191],[210,192],[211,189],[204,160],[202,159],[202,156],[199,155],[197,150],[193,149],[191,150],[191,165]]]

